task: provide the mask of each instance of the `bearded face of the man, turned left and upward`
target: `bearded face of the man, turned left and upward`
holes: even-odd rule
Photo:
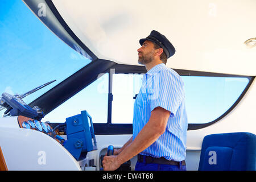
[[[147,64],[150,63],[152,60],[154,60],[154,53],[155,53],[155,48],[154,44],[149,41],[145,40],[145,42],[142,44],[142,47],[139,48],[138,50],[138,63],[139,64]]]

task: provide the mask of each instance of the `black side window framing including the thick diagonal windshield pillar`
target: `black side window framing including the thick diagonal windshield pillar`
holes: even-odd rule
[[[108,119],[106,123],[93,123],[94,132],[96,135],[120,135],[120,134],[132,134],[133,125],[130,123],[112,123],[112,80],[113,73],[111,69],[114,69],[114,73],[137,73],[142,74],[146,73],[147,70],[144,66],[140,65],[127,65],[127,64],[118,64],[113,61],[108,60],[96,60],[86,65],[84,68],[77,71],[72,76],[68,77],[66,80],[60,84],[53,87],[48,92],[44,93],[42,96],[37,98],[35,101],[32,101],[29,105],[39,106],[44,110],[44,113],[47,114],[51,110],[55,109],[57,106],[61,105],[63,102],[67,101],[69,98],[74,96],[80,90],[86,88],[93,81],[97,80],[98,74],[100,73],[109,73],[109,93],[108,93]],[[97,70],[97,72],[95,72]],[[222,73],[210,73],[210,72],[200,72],[200,71],[189,71],[184,69],[174,69],[180,76],[207,76],[207,77],[243,77],[248,78],[249,82],[243,90],[242,94],[236,102],[214,121],[207,123],[189,123],[188,130],[197,130],[204,127],[208,127],[213,123],[220,121],[227,114],[230,113],[237,106],[237,104],[245,96],[247,90],[250,88],[251,83],[253,82],[255,76],[241,76],[241,75],[229,75]],[[79,84],[77,84],[79,82]],[[72,88],[72,89],[71,89]],[[63,89],[65,92],[63,93]],[[60,94],[61,93],[61,94]],[[92,116],[93,117],[93,116]],[[93,118],[92,118],[93,119]]]

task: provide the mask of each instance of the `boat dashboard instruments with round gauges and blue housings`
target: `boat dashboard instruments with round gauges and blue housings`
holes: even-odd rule
[[[42,122],[43,110],[33,108],[23,102],[18,95],[3,93],[0,105],[6,108],[6,116],[18,116],[18,124],[22,129],[35,130],[46,134],[66,148],[76,160],[86,158],[87,152],[97,150],[92,117],[86,110],[81,114],[66,118],[65,123],[55,126],[50,122]],[[67,135],[67,139],[60,135]]]

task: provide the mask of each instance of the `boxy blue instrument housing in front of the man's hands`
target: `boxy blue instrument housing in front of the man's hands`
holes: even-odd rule
[[[89,151],[97,150],[92,117],[87,111],[66,118],[66,134],[63,146],[76,160],[85,158]]]

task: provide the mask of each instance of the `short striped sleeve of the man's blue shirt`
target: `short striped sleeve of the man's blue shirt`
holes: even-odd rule
[[[152,78],[152,89],[148,94],[150,111],[162,107],[176,115],[184,98],[184,83],[179,75],[170,71],[162,71]]]

